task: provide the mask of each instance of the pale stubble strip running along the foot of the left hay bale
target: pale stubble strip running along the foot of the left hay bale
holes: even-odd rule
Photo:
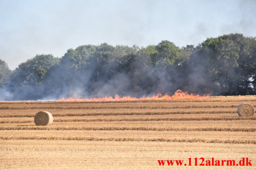
[[[200,125],[200,126],[199,126]],[[8,123],[0,124],[0,127],[32,127],[34,123]],[[131,122],[54,122],[50,127],[89,127],[89,128],[104,128],[104,127],[128,127],[128,128],[256,128],[255,120],[242,121],[131,121]]]

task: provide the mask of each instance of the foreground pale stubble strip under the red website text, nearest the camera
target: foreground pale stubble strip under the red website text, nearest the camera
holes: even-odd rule
[[[78,141],[78,140],[0,140],[0,167],[23,169],[206,169],[197,167],[159,167],[157,160],[187,160],[211,157],[256,161],[252,144]],[[15,155],[15,153],[18,153]],[[211,169],[237,167],[212,167]],[[242,167],[254,169],[255,167]],[[207,167],[208,169],[208,167]],[[239,168],[238,168],[239,169]]]

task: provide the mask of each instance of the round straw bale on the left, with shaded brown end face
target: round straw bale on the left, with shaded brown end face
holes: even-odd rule
[[[34,117],[34,122],[36,126],[46,126],[47,124],[52,124],[52,114],[47,111],[39,111]]]

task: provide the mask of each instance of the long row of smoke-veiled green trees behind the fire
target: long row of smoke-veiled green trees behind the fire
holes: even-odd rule
[[[147,47],[83,45],[61,58],[38,54],[14,71],[0,60],[0,100],[142,97],[177,89],[256,94],[255,37],[228,34],[181,48],[167,40]]]

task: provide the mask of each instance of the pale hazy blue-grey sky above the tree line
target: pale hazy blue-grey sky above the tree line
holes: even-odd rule
[[[84,44],[256,37],[255,9],[256,0],[0,0],[0,59],[14,70],[36,54],[62,57]]]

